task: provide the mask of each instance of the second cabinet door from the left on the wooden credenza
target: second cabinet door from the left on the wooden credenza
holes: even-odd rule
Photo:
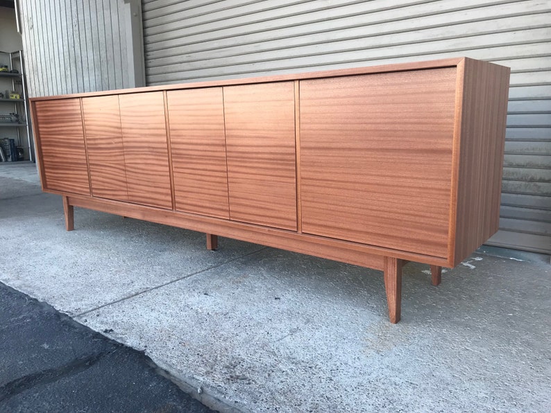
[[[92,195],[128,200],[119,96],[83,98]]]

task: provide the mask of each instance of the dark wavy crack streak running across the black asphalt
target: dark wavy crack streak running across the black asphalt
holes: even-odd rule
[[[25,392],[28,389],[32,389],[33,387],[47,385],[62,378],[79,374],[87,369],[90,369],[90,367],[99,362],[99,360],[103,357],[114,353],[115,351],[117,351],[117,349],[85,355],[83,357],[76,358],[61,367],[37,371],[36,373],[16,378],[15,380],[12,380],[0,387],[0,402],[6,401],[8,398],[17,396],[17,394]]]

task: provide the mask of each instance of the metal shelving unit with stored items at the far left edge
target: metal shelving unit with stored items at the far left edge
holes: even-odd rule
[[[28,107],[27,88],[25,82],[23,51],[0,51],[0,64],[8,66],[8,72],[0,72],[0,91],[15,91],[21,98],[10,99],[8,96],[0,98],[0,114],[14,113],[19,116],[19,122],[0,122],[0,139],[4,128],[15,128],[17,134],[17,146],[23,148],[25,157],[29,161],[35,161],[33,139]],[[16,69],[19,73],[10,73]],[[10,107],[11,105],[11,107]],[[26,134],[26,135],[25,135]],[[15,139],[15,138],[12,138]]]

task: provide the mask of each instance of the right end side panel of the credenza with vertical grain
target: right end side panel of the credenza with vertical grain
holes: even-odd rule
[[[508,67],[465,60],[454,264],[499,229]]]

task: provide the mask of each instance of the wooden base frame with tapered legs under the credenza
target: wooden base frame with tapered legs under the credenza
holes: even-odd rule
[[[373,268],[374,270],[382,270],[384,272],[384,287],[387,293],[389,319],[393,324],[400,321],[402,267],[408,261],[430,263],[432,283],[438,285],[441,281],[441,265],[446,265],[444,258],[420,256],[418,254],[399,254],[398,252],[396,252],[397,254],[393,254],[392,251],[384,249],[379,253],[377,247],[370,245],[359,245],[357,243],[309,234],[297,234],[296,232],[283,229],[260,227],[244,222],[232,222],[191,213],[144,207],[139,204],[128,204],[126,202],[66,194],[62,194],[62,200],[67,231],[74,229],[74,207],[82,207],[204,232],[207,240],[206,247],[209,250],[218,248],[219,236],[227,236],[228,238],[250,243],[258,243],[301,254]],[[406,256],[406,258],[400,256]]]

